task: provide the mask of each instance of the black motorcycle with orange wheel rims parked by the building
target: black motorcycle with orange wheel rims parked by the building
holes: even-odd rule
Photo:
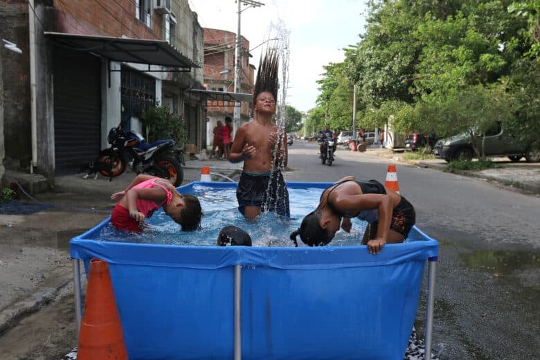
[[[163,179],[170,179],[174,186],[183,181],[183,151],[174,145],[174,140],[158,140],[147,143],[138,132],[126,131],[122,125],[109,131],[107,141],[111,144],[100,152],[98,162],[109,164],[112,177],[122,174],[129,167],[136,174],[146,173]],[[107,170],[100,172],[109,177]]]

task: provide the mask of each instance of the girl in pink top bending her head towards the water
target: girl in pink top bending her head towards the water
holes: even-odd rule
[[[201,204],[197,197],[181,195],[167,179],[139,174],[126,190],[115,192],[118,199],[111,214],[111,224],[120,230],[140,233],[146,217],[163,207],[165,214],[181,225],[183,231],[193,231],[201,223]]]

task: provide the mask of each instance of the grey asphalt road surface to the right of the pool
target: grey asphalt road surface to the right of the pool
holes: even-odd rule
[[[384,181],[393,163],[339,150],[328,167],[314,144],[295,145],[289,181],[348,174]],[[440,242],[433,332],[440,359],[540,359],[540,197],[399,163],[397,178],[417,225]],[[417,314],[420,329],[424,311]]]

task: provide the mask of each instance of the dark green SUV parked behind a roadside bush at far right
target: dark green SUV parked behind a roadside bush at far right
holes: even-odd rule
[[[482,150],[483,136],[474,137],[476,149]],[[530,163],[540,161],[540,150],[531,146],[531,141],[518,141],[504,132],[500,124],[489,129],[485,134],[486,156],[508,156],[511,161],[519,161],[523,156]],[[437,141],[433,148],[435,157],[445,161],[465,159],[474,156],[474,150],[468,133],[459,134]]]

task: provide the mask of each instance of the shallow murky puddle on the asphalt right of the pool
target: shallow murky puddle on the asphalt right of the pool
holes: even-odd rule
[[[525,251],[475,251],[463,255],[465,266],[504,274],[540,268],[540,254]]]

